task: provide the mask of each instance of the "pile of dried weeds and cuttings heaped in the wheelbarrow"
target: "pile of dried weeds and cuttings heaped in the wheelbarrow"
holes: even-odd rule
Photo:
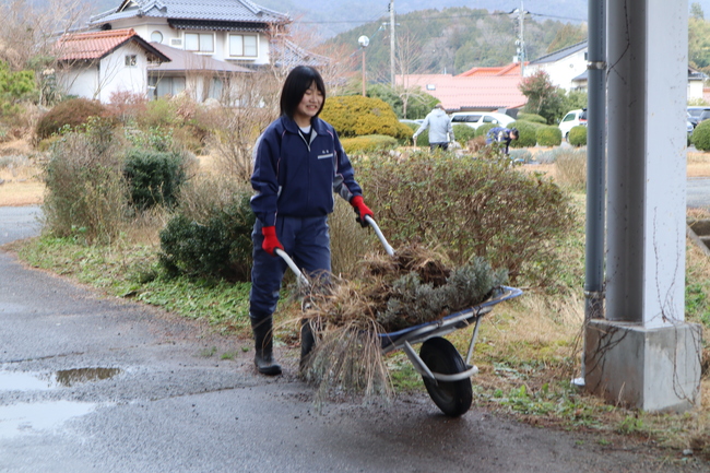
[[[331,280],[313,287],[305,317],[317,343],[304,366],[319,394],[335,391],[388,395],[390,380],[380,350],[380,333],[438,320],[485,300],[507,280],[483,258],[451,268],[446,258],[422,246],[394,257],[370,255],[357,277]]]

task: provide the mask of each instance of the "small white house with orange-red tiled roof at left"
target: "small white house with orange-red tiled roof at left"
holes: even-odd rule
[[[58,87],[104,103],[115,93],[145,95],[147,64],[170,60],[130,28],[64,35],[57,55]]]

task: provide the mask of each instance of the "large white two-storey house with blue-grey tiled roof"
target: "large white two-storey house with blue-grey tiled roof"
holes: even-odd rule
[[[224,98],[238,74],[328,62],[286,38],[291,23],[287,14],[250,0],[121,0],[88,26],[130,27],[170,57],[170,63],[149,68],[153,97],[185,92],[204,100]]]

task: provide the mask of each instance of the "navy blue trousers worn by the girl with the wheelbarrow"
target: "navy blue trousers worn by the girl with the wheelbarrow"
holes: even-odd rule
[[[249,316],[252,322],[262,322],[271,318],[276,310],[281,282],[288,268],[281,257],[272,257],[261,248],[261,222],[257,220],[251,233],[253,265]],[[327,216],[280,216],[276,218],[276,237],[304,274],[311,277],[330,274],[330,234]]]

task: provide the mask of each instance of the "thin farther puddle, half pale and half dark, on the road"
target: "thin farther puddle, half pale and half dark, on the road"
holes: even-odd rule
[[[45,391],[71,388],[83,382],[110,379],[123,373],[120,368],[62,369],[52,375],[23,371],[0,371],[0,391]]]

